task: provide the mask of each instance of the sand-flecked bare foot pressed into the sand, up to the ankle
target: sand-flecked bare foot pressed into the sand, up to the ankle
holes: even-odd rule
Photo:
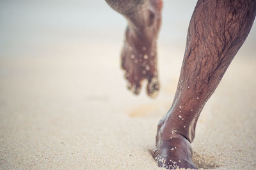
[[[168,131],[164,122],[159,123],[156,136],[156,148],[152,156],[159,167],[166,169],[196,169],[192,161],[192,149],[188,139],[175,130]]]

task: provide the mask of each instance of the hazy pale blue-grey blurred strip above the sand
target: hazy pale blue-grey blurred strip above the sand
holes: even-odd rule
[[[77,51],[77,45],[84,45],[86,51],[89,50],[87,43],[118,43],[117,47],[122,46],[125,19],[109,8],[105,1],[2,0],[0,3],[1,57],[37,57],[39,53],[57,50],[70,53]],[[195,4],[196,1],[164,1],[159,46],[184,50]],[[255,32],[253,26],[243,51],[252,50]],[[116,50],[120,51],[120,48]],[[81,55],[89,57],[85,53]]]

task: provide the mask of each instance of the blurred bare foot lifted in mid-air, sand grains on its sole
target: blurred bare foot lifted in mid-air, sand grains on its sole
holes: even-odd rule
[[[131,14],[122,49],[122,69],[128,89],[139,94],[141,83],[148,80],[147,94],[155,97],[159,90],[156,39],[161,25],[161,0],[145,1]]]

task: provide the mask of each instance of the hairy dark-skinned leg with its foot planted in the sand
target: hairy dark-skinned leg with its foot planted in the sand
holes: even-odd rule
[[[190,143],[205,102],[243,45],[256,15],[255,0],[199,0],[172,107],[160,120],[153,157],[159,166],[195,168]]]

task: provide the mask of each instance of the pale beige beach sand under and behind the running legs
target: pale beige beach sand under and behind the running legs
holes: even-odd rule
[[[124,27],[93,41],[95,30],[61,27],[1,40],[0,169],[161,169],[150,150],[172,104],[185,41],[159,39],[161,91],[149,99],[145,90],[134,96],[126,89]],[[199,168],[256,167],[255,25],[251,34],[198,120],[192,146]]]

